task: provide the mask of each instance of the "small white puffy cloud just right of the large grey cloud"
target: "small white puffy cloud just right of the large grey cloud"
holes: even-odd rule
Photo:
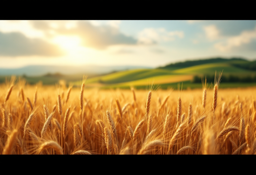
[[[165,28],[146,28],[138,34],[138,43],[155,44],[158,42],[174,41],[183,38],[183,31],[166,31]]]

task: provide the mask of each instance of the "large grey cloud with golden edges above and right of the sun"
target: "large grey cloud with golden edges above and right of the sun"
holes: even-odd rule
[[[119,29],[120,21],[30,21],[44,31],[48,39],[57,36],[77,36],[81,45],[95,49],[106,49],[110,45],[136,45],[137,40],[123,34]],[[103,22],[107,22],[103,24]],[[99,25],[100,24],[100,25]],[[66,43],[64,43],[66,44]],[[70,44],[67,44],[70,45]]]

